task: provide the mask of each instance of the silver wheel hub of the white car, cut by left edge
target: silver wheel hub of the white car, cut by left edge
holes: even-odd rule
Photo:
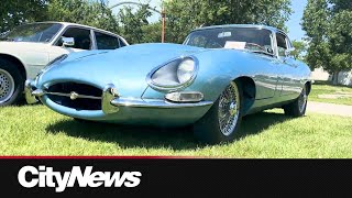
[[[8,101],[14,92],[14,80],[12,76],[0,69],[0,103]]]

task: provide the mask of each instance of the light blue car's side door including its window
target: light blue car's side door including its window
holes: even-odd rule
[[[283,33],[276,33],[277,54],[279,59],[279,79],[282,86],[279,96],[297,95],[300,92],[300,77],[298,63],[289,55],[293,48],[288,37]]]

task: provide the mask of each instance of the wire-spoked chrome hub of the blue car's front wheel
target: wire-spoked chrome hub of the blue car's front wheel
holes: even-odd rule
[[[222,134],[229,136],[238,123],[240,116],[240,95],[234,82],[221,94],[219,100],[219,125]]]

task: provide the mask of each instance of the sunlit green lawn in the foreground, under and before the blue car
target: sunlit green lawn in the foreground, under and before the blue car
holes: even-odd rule
[[[271,110],[245,117],[233,143],[209,146],[185,129],[80,123],[44,106],[8,107],[0,109],[0,155],[351,158],[351,118]]]

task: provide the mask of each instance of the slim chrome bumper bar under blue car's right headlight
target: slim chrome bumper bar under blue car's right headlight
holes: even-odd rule
[[[116,107],[132,107],[132,108],[163,108],[163,109],[177,109],[177,108],[193,108],[211,106],[212,101],[188,102],[188,103],[174,103],[165,100],[153,99],[135,99],[135,98],[117,98],[111,101]]]

